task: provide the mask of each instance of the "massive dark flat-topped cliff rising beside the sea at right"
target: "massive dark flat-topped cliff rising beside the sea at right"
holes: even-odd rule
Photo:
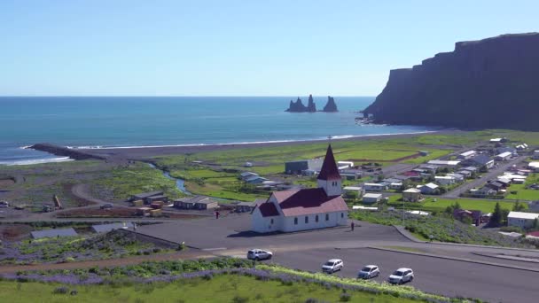
[[[539,130],[539,33],[456,43],[395,69],[363,110],[376,122]]]

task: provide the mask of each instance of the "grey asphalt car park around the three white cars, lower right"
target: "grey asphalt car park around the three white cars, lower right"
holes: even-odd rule
[[[394,269],[407,267],[412,268],[415,274],[411,286],[449,297],[462,296],[494,302],[536,302],[539,294],[535,283],[530,283],[539,279],[536,272],[369,248],[287,252],[276,254],[272,261],[289,268],[320,271],[322,263],[332,258],[342,259],[345,263],[344,270],[335,273],[336,276],[355,277],[363,265],[376,264],[381,269],[381,275],[374,280],[382,282]]]

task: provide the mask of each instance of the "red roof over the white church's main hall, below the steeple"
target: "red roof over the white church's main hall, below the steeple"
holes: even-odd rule
[[[285,216],[348,211],[340,196],[327,196],[324,189],[284,190],[273,192]]]

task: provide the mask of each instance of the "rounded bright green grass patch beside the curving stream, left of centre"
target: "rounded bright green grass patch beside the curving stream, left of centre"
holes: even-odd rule
[[[153,190],[164,191],[168,198],[184,197],[174,180],[138,162],[129,167],[114,167],[109,174],[94,180],[92,194],[105,200],[124,201],[131,195]]]

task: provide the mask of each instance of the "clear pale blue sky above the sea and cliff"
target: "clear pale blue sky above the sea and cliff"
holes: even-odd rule
[[[0,1],[3,96],[375,96],[539,1]]]

